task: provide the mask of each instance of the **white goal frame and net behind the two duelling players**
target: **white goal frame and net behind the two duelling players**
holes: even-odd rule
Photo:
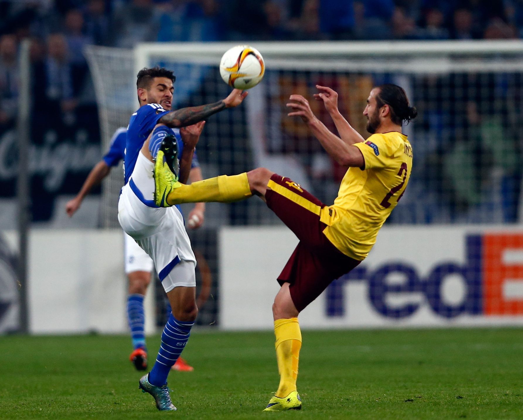
[[[338,167],[300,120],[287,117],[292,93],[311,99],[328,127],[315,85],[339,93],[340,110],[365,135],[361,112],[374,85],[403,86],[419,116],[405,128],[416,154],[414,173],[391,223],[503,223],[519,220],[523,45],[515,42],[253,43],[266,75],[242,107],[209,118],[198,145],[204,176],[267,166],[310,189],[327,204]],[[227,43],[146,43],[134,51],[89,47],[104,144],[127,126],[137,107],[142,67],[174,70],[176,108],[211,103],[230,91],[218,63]],[[117,172],[117,171],[113,171]],[[121,177],[104,185],[103,224],[117,225]],[[212,208],[212,206],[211,206]],[[220,207],[211,225],[274,222],[258,200]]]

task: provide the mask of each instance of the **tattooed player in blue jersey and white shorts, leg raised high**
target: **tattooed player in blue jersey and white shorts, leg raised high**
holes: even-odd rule
[[[173,154],[171,164],[180,181],[187,179],[204,119],[240,105],[247,96],[234,89],[214,104],[171,111],[174,81],[173,72],[159,67],[143,69],[137,75],[140,108],[129,121],[125,185],[118,201],[118,220],[123,230],[153,259],[172,308],[153,369],[139,382],[143,392],[150,393],[162,411],[176,410],[170,400],[167,376],[187,344],[198,308],[196,258],[183,218],[175,207],[163,208],[154,203],[154,158],[160,147],[173,150],[171,128],[182,127],[184,149]]]

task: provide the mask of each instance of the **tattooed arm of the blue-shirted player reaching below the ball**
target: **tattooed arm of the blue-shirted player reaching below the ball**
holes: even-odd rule
[[[243,102],[246,96],[247,92],[240,89],[233,89],[228,97],[214,104],[177,109],[176,111],[166,113],[158,122],[172,128],[191,126],[225,108],[237,107]]]

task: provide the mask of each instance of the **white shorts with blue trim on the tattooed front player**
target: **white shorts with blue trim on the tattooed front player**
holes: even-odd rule
[[[195,276],[175,278],[173,273],[180,261],[191,262],[194,271],[196,258],[180,211],[154,205],[153,169],[154,164],[140,152],[118,200],[118,221],[152,258],[166,292],[177,286],[195,287]]]

